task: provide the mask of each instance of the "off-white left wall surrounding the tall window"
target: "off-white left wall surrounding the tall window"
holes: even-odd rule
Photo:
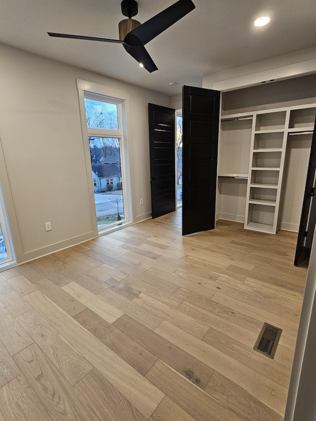
[[[133,220],[149,217],[148,103],[167,107],[170,97],[3,44],[0,56],[0,181],[18,262],[97,235],[76,78],[129,93]]]

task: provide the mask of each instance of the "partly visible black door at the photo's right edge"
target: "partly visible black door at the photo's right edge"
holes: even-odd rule
[[[301,222],[300,222],[300,228],[298,230],[297,245],[296,245],[295,258],[294,258],[295,266],[299,264],[300,258],[304,251],[304,242],[305,242],[305,237],[307,236],[307,223],[309,220],[311,198],[315,195],[315,187],[314,187],[315,170],[316,170],[316,131],[315,131],[315,126],[314,126],[311,154],[310,154],[310,160],[308,164],[307,179],[306,179],[304,199],[303,199]],[[308,229],[314,231],[315,226],[314,227],[309,226]]]

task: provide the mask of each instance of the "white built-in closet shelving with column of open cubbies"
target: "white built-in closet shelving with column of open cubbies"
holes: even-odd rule
[[[316,105],[311,104],[221,118],[218,189],[220,193],[224,188],[230,191],[232,210],[227,212],[230,197],[226,194],[221,199],[226,213],[219,210],[218,215],[236,221],[243,218],[248,230],[276,233],[287,141],[289,136],[298,139],[311,134],[315,115]],[[241,202],[244,217],[240,215]],[[235,217],[230,215],[233,212]]]

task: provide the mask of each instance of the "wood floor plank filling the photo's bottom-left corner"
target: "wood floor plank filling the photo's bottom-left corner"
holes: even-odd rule
[[[22,374],[0,388],[0,407],[5,421],[53,421]]]

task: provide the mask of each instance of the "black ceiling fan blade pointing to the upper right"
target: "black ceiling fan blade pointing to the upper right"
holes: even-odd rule
[[[171,25],[183,18],[186,14],[195,9],[192,0],[179,0],[167,7],[158,15],[144,22],[138,28],[131,31],[128,35],[136,36],[143,45],[157,37]]]

